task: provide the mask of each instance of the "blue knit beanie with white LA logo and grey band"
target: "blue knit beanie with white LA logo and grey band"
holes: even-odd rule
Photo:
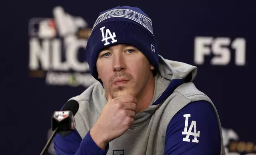
[[[96,62],[102,49],[120,43],[139,49],[158,71],[157,42],[151,19],[139,8],[117,6],[99,13],[86,46],[86,59],[91,75],[98,79]]]

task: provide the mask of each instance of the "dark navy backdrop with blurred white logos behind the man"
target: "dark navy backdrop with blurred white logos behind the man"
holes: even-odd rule
[[[128,5],[151,18],[160,55],[198,66],[194,83],[219,112],[228,155],[256,155],[254,1],[0,3],[4,106],[0,154],[41,152],[50,134],[52,113],[95,81],[84,47],[99,12]],[[52,151],[50,147],[49,155]]]

